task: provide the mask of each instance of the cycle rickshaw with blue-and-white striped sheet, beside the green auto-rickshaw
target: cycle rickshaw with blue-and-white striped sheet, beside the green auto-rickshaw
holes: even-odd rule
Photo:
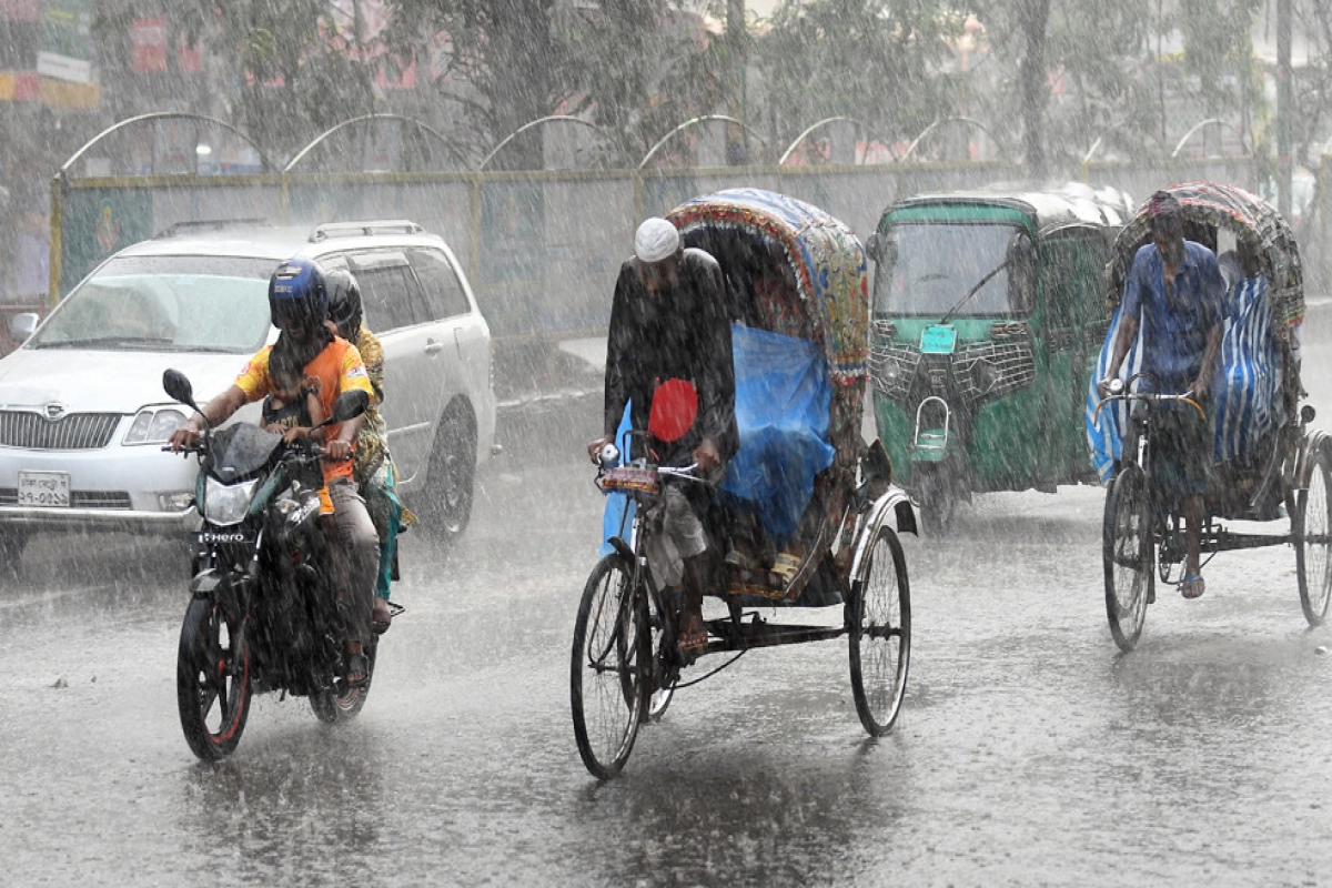
[[[1332,591],[1332,441],[1311,427],[1313,407],[1300,406],[1305,391],[1300,385],[1304,281],[1299,246],[1285,220],[1243,189],[1189,182],[1166,190],[1183,206],[1184,237],[1217,253],[1228,288],[1220,366],[1204,413],[1212,465],[1201,554],[1209,560],[1220,551],[1289,543],[1304,616],[1317,626],[1327,616]],[[1144,206],[1120,233],[1106,269],[1112,320],[1087,394],[1092,462],[1110,482],[1103,523],[1106,611],[1123,651],[1138,643],[1156,579],[1176,584],[1183,575],[1180,503],[1166,502],[1152,478],[1156,418],[1169,401],[1183,401],[1177,409],[1203,411],[1188,398],[1142,385],[1140,338],[1120,369],[1119,383],[1098,401],[1095,381],[1107,375],[1124,284],[1134,256],[1148,240]],[[1285,533],[1239,533],[1221,523],[1287,518]]]

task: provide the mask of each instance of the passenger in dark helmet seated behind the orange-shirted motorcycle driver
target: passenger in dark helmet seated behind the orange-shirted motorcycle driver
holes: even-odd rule
[[[393,555],[397,551],[398,530],[416,523],[416,515],[406,510],[397,494],[397,467],[389,454],[389,426],[380,414],[384,403],[384,346],[365,326],[361,308],[361,288],[350,272],[341,269],[328,273],[329,325],[340,337],[356,345],[365,362],[365,371],[374,390],[374,401],[361,417],[361,431],[356,441],[356,483],[365,497],[374,530],[380,535],[380,571],[374,580],[374,610],[370,627],[386,632],[393,620],[389,608],[389,586],[393,580]]]

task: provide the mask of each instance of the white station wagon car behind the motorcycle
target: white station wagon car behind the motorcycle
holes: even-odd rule
[[[384,345],[401,493],[426,530],[462,533],[496,401],[490,329],[449,246],[405,221],[186,225],[103,262],[0,359],[0,570],[35,531],[198,525],[197,465],[163,451],[188,411],[163,391],[163,371],[189,377],[200,403],[225,390],[276,338],[268,280],[294,256],[356,276]],[[257,417],[249,405],[233,421]]]

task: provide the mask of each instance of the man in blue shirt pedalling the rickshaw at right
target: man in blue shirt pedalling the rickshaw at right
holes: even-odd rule
[[[1111,378],[1143,330],[1143,381],[1162,394],[1188,394],[1205,403],[1221,347],[1225,320],[1225,282],[1216,256],[1184,240],[1179,201],[1156,192],[1147,205],[1152,242],[1134,257],[1124,288],[1124,304],[1110,362]],[[1107,381],[1100,383],[1102,397]],[[1209,426],[1192,406],[1172,402],[1160,406],[1160,422],[1152,438],[1152,477],[1184,511],[1184,598],[1197,598],[1205,584],[1199,567],[1203,531],[1203,497],[1211,462]]]

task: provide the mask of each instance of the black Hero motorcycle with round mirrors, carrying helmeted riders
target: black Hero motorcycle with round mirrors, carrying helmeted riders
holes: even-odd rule
[[[163,374],[173,399],[200,413],[178,370]],[[316,427],[346,422],[369,405],[344,391]],[[194,501],[204,519],[194,539],[190,600],[180,630],[176,700],[185,742],[216,762],[240,743],[254,694],[308,696],[326,723],[365,706],[376,640],[365,648],[366,680],[345,680],[344,619],[333,578],[346,570],[329,518],[320,517],[322,449],[285,443],[257,425],[208,429],[198,458]]]

